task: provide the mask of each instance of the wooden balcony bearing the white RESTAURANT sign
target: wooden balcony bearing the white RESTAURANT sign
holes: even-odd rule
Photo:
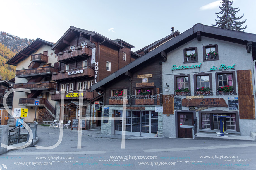
[[[94,69],[92,67],[80,67],[71,70],[63,70],[60,72],[55,72],[52,75],[52,80],[61,81],[64,79],[72,79],[72,78],[86,78],[86,77],[94,77]]]

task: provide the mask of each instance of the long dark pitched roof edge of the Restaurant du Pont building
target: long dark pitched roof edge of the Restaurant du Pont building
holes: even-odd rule
[[[198,32],[199,31],[199,32]],[[233,31],[229,29],[217,28],[214,26],[207,26],[203,24],[195,24],[192,28],[186,30],[185,32],[181,33],[179,36],[171,39],[170,41],[164,43],[163,45],[155,48],[154,50],[148,52],[147,54],[141,56],[137,60],[131,62],[130,64],[124,66],[123,68],[117,70],[116,72],[112,73],[108,77],[102,79],[101,81],[97,82],[96,84],[91,86],[91,91],[105,85],[106,83],[110,82],[111,80],[117,78],[118,76],[124,74],[125,72],[131,70],[135,66],[140,65],[144,61],[149,60],[150,58],[154,57],[155,55],[161,54],[162,51],[166,53],[178,48],[179,46],[187,43],[188,41],[197,38],[197,34],[201,36],[207,36],[211,38],[216,38],[220,40],[225,40],[229,42],[239,43],[246,45],[248,41],[252,41],[252,53],[253,57],[256,57],[256,34],[252,33],[245,33],[241,31]],[[255,56],[254,56],[255,55]]]

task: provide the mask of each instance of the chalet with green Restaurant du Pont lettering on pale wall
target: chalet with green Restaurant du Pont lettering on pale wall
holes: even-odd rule
[[[160,137],[216,136],[216,132],[220,131],[221,116],[225,116],[223,124],[226,133],[251,136],[251,132],[256,132],[255,42],[255,34],[196,24],[164,45],[145,54],[141,52],[142,57],[135,62],[91,87],[91,90],[104,92],[103,103],[106,110],[102,114],[101,133],[122,134],[119,129],[122,128],[122,121],[119,118],[126,111],[126,135],[154,136],[156,130],[154,132],[151,127],[152,120],[144,120],[147,116],[142,111],[145,109],[150,110],[148,118],[156,117],[151,113],[157,113],[157,131]],[[158,68],[144,68],[151,66],[148,62],[154,59],[162,63],[162,72],[158,72],[159,80],[153,81],[150,79],[155,78],[154,72]],[[155,104],[158,93],[151,94],[151,97],[144,96],[145,93],[137,96],[138,90],[144,90],[142,87],[138,89],[139,82],[133,83],[141,77],[139,75],[148,77],[148,82],[154,82],[155,88],[159,87],[156,83],[161,82],[159,97],[160,106],[161,103],[163,106],[162,112],[156,112],[159,108],[150,108],[158,106]],[[141,81],[143,84],[143,78]],[[128,101],[123,108],[120,105],[122,102],[112,100],[122,99],[123,97],[115,97],[115,94],[125,89],[128,91]],[[146,90],[151,91],[151,88],[147,87]],[[147,98],[156,101],[145,108],[145,104],[136,105],[136,101],[146,101]],[[137,109],[138,116],[135,111]],[[154,124],[156,122],[153,120]],[[140,133],[136,134],[137,125],[140,126]],[[145,126],[150,129],[150,134],[154,133],[145,135]]]

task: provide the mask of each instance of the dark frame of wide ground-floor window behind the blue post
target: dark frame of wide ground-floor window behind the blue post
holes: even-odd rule
[[[209,113],[210,114],[210,127],[211,129],[205,129],[205,128],[202,128],[202,113]],[[204,111],[204,110],[201,110],[199,111],[198,113],[198,117],[199,117],[199,129],[200,130],[209,130],[209,131],[212,131],[212,132],[215,132],[216,130],[219,130],[219,129],[214,129],[214,124],[213,124],[213,114],[222,114],[222,115],[226,115],[226,114],[235,114],[236,116],[236,130],[228,130],[229,132],[232,131],[232,132],[240,132],[240,128],[239,128],[239,114],[237,111],[233,111],[233,112],[228,112],[228,111],[222,111],[222,110],[212,110],[212,111]],[[224,119],[224,130],[226,131],[226,119]]]

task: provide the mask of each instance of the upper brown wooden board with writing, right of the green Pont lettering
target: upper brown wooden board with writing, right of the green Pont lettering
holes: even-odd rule
[[[251,70],[237,71],[237,86],[238,95],[253,95]]]

